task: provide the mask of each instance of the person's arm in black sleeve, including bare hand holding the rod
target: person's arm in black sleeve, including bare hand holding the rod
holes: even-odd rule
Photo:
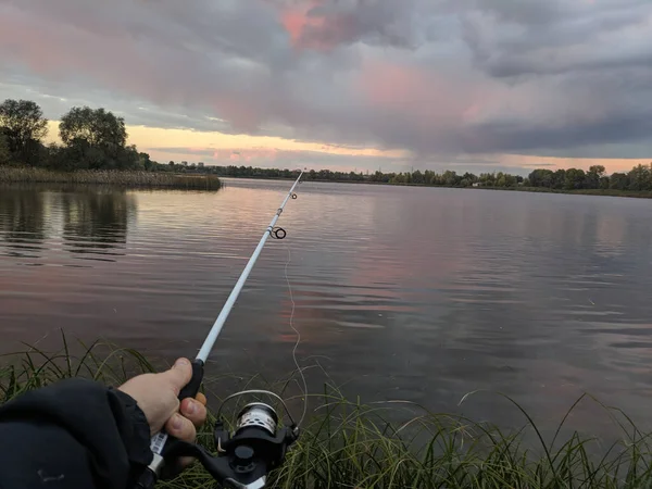
[[[190,376],[189,362],[179,361],[118,389],[67,379],[7,403],[0,408],[0,488],[133,487],[151,461],[152,432],[165,426],[193,441],[205,419],[203,404],[176,398]]]

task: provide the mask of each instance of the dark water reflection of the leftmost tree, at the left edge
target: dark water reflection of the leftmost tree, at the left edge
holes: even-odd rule
[[[36,189],[0,187],[0,239],[5,254],[39,258],[46,239],[43,193]]]

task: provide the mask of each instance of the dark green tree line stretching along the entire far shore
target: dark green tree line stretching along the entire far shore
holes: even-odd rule
[[[45,145],[48,120],[41,108],[29,100],[8,99],[0,104],[0,165],[25,164],[57,171],[74,170],[142,170],[214,174],[239,178],[296,178],[298,171],[260,168],[244,165],[206,166],[202,162],[166,164],[152,161],[146,152],[127,146],[127,130],[123,117],[104,109],[74,106],[61,117],[59,136],[62,145]],[[652,164],[637,165],[628,173],[606,175],[602,165],[592,165],[588,172],[578,168],[534,170],[527,177],[503,172],[475,175],[454,171],[383,173],[380,171],[333,172],[311,170],[306,179],[322,181],[363,181],[397,185],[426,185],[439,187],[541,187],[554,190],[615,189],[652,191]]]

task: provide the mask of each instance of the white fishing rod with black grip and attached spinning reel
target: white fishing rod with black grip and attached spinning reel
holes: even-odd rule
[[[299,185],[303,171],[290,188],[274,218],[267,226],[258,247],[249,259],[240,278],[233,288],[213,327],[209,331],[197,358],[192,361],[192,378],[179,392],[179,400],[195,398],[203,380],[204,364],[213,350],[217,336],[224,327],[251,269],[261,254],[268,238],[284,239],[287,236],[283,227],[276,223],[290,199],[297,199],[294,188]],[[277,399],[283,404],[290,421],[289,426],[278,428],[279,416],[268,404],[252,402],[247,404],[238,414],[236,429],[233,434],[225,428],[221,417],[226,402],[240,396],[265,394]],[[215,423],[214,442],[217,455],[213,455],[204,447],[188,443],[171,437],[161,430],[152,437],[150,449],[153,453],[152,463],[140,476],[137,487],[152,489],[161,476],[166,463],[179,456],[193,456],[198,459],[211,476],[224,488],[234,489],[261,489],[266,485],[267,474],[283,463],[288,448],[299,438],[299,426],[292,418],[288,406],[281,398],[266,390],[246,390],[229,396],[224,400],[217,411]]]

